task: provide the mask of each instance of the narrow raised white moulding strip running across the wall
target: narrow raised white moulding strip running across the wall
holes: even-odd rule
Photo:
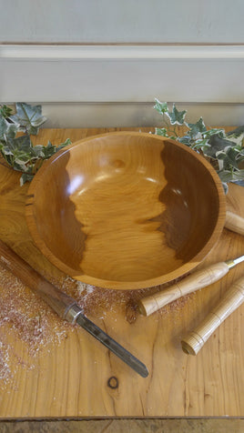
[[[0,45],[2,58],[84,59],[243,59],[244,45]]]

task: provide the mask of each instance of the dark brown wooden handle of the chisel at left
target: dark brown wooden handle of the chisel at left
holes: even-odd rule
[[[74,306],[75,300],[68,297],[59,288],[49,283],[45,277],[30,267],[23,258],[15,254],[0,240],[0,265],[12,272],[25,286],[31,288],[37,295],[42,297],[52,307],[58,316],[66,318],[68,310]]]

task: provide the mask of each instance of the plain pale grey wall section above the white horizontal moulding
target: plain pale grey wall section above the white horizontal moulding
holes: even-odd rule
[[[244,43],[243,0],[0,0],[0,41]]]

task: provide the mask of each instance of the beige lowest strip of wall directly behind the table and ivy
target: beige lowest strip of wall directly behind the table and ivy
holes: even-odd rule
[[[162,126],[161,116],[150,103],[43,104],[48,120],[44,127],[142,127]],[[194,123],[200,116],[207,126],[244,125],[244,104],[187,104],[187,120]]]

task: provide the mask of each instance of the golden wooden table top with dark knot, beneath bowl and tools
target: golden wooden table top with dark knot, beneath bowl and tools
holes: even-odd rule
[[[112,130],[117,129],[42,129],[36,143],[45,144],[49,139],[59,144],[67,137],[74,142]],[[28,185],[21,187],[19,174],[3,165],[0,179],[0,238],[47,279],[76,297],[87,317],[149,370],[147,378],[139,377],[82,328],[63,323],[28,287],[0,267],[1,418],[243,415],[244,306],[215,331],[197,357],[187,356],[180,340],[244,274],[244,263],[211,287],[150,317],[137,315],[130,323],[128,305],[135,296],[148,295],[153,289],[124,294],[85,287],[68,278],[42,256],[28,233]],[[229,187],[227,204],[229,210],[244,217],[240,186]],[[225,228],[201,267],[239,257],[243,252],[244,238]],[[109,382],[112,377],[117,380]],[[110,388],[109,383],[115,383],[116,388]]]

